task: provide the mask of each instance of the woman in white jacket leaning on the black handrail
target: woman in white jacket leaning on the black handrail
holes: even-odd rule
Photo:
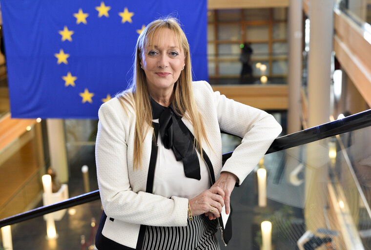
[[[220,131],[243,137],[222,170]],[[222,207],[281,126],[264,111],[192,82],[173,18],[139,36],[131,87],[99,110],[96,163],[104,208],[98,249],[219,249]],[[207,216],[204,216],[204,214]]]

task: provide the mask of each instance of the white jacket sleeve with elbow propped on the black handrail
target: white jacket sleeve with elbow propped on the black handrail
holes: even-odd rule
[[[242,138],[222,168],[222,172],[235,174],[241,185],[281,133],[282,127],[267,112],[228,99],[219,91],[214,92],[214,98],[220,129]]]

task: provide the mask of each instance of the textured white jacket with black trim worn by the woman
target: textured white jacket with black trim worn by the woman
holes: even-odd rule
[[[227,99],[213,92],[204,82],[193,82],[194,97],[202,115],[207,138],[212,149],[203,149],[212,164],[215,179],[221,171],[235,174],[241,184],[257,165],[272,141],[281,132],[281,126],[268,113]],[[193,134],[193,127],[182,118]],[[152,151],[150,129],[144,139],[143,165],[133,168],[135,113],[125,112],[117,98],[102,104],[96,141],[96,164],[101,200],[106,216],[100,223],[97,237],[105,239],[98,244],[104,249],[113,243],[117,249],[141,249],[145,226],[186,226],[186,198],[165,198],[146,192],[148,167]],[[224,131],[242,139],[222,170],[222,141]],[[213,178],[214,179],[214,176]],[[200,193],[203,190],[200,190]],[[142,225],[142,227],[141,227]],[[102,237],[102,235],[100,235]],[[112,248],[112,247],[111,247]]]

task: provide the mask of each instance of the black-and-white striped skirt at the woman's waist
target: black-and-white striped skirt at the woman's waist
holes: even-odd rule
[[[220,250],[217,224],[202,214],[188,220],[186,227],[147,226],[143,250]]]

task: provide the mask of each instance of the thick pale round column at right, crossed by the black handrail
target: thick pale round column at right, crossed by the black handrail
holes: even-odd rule
[[[310,0],[309,2],[309,127],[330,121],[333,4],[333,0]],[[304,215],[307,229],[312,232],[317,231],[318,228],[326,228],[328,157],[326,144],[308,145]]]

